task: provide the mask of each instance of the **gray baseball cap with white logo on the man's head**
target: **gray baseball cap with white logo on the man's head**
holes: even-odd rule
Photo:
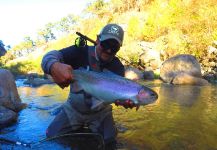
[[[107,24],[99,34],[99,40],[105,41],[108,39],[115,39],[122,46],[124,38],[124,30],[117,24]]]

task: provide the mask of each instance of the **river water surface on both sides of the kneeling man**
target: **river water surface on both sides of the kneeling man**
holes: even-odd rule
[[[37,142],[45,138],[45,130],[55,117],[53,112],[67,99],[68,89],[55,85],[32,88],[20,83],[17,82],[19,95],[29,107],[19,113],[18,123],[1,131],[0,136]],[[138,111],[114,107],[115,122],[121,131],[118,140],[125,149],[217,150],[217,85],[172,86],[156,81],[144,84],[159,94],[156,103],[141,106]],[[49,148],[70,149],[53,141],[32,147]]]

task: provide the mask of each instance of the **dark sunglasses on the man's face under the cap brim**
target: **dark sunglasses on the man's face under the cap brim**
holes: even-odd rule
[[[102,41],[100,42],[100,46],[102,47],[103,52],[109,55],[115,55],[120,49],[120,45],[114,40]],[[109,49],[110,49],[110,52],[108,51]]]

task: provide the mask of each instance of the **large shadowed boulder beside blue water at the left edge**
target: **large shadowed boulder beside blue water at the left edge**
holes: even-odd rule
[[[0,127],[16,120],[16,113],[26,107],[21,102],[10,71],[0,69]]]

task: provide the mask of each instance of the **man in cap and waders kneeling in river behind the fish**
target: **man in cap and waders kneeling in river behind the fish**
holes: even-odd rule
[[[73,89],[73,69],[80,67],[103,71],[107,69],[124,76],[124,66],[115,56],[122,46],[123,29],[117,24],[106,25],[97,35],[95,46],[75,45],[50,51],[42,60],[42,68],[61,87],[70,85],[68,100],[47,129],[47,137],[76,131],[87,126],[92,132],[100,133],[105,143],[116,138],[116,128],[111,105],[105,105],[87,93],[76,93]]]

